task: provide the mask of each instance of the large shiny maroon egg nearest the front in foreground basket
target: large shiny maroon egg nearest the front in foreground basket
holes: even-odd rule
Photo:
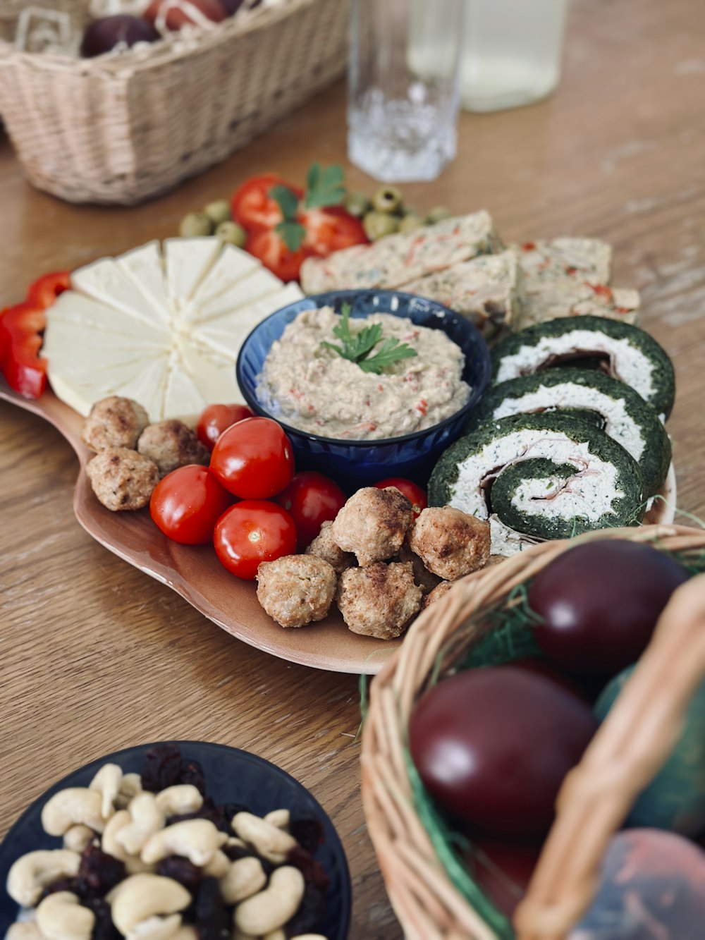
[[[597,729],[584,700],[526,669],[467,669],[421,697],[411,755],[431,796],[475,831],[539,837]]]

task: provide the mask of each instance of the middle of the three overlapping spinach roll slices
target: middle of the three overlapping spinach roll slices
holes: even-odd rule
[[[593,415],[591,423],[614,438],[639,464],[648,496],[658,493],[671,462],[666,428],[651,405],[629,385],[588,368],[549,368],[489,388],[467,430],[508,415]]]

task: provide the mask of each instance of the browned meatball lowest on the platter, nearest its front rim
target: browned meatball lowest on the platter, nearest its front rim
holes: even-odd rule
[[[400,561],[349,568],[337,583],[337,605],[348,628],[382,640],[403,633],[418,613],[422,596],[411,564]]]

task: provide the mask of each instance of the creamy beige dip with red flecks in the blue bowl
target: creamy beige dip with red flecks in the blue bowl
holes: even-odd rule
[[[431,428],[470,397],[470,386],[462,381],[464,354],[442,330],[385,313],[351,318],[352,333],[370,323],[382,325],[375,349],[396,338],[417,353],[375,374],[321,346],[321,340],[341,345],[333,333],[339,321],[329,306],[304,310],[272,344],[257,394],[285,424],[324,437],[379,440]]]

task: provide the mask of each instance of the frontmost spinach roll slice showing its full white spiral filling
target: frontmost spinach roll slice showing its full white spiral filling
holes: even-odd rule
[[[489,519],[493,554],[509,555],[526,540],[636,525],[645,493],[623,446],[556,412],[509,415],[462,436],[433,468],[429,504]]]

